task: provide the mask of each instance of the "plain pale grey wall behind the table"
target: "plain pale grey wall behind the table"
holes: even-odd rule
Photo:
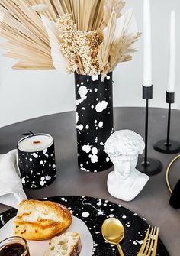
[[[169,21],[172,9],[176,13],[176,86],[175,104],[180,109],[180,2],[179,0],[151,0],[153,43],[153,100],[150,106],[166,107],[165,93],[168,80]],[[127,0],[133,7],[137,25],[143,31],[143,0]],[[0,41],[2,39],[0,38]],[[114,106],[143,106],[143,35],[139,51],[129,63],[121,63],[114,70]],[[3,50],[0,50],[0,54]],[[15,63],[0,57],[0,126],[25,119],[66,112],[75,109],[73,75],[56,70],[12,70]]]

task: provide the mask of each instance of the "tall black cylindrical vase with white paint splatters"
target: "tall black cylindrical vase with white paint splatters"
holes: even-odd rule
[[[113,132],[112,73],[101,76],[75,73],[78,163],[81,170],[100,172],[112,166],[104,143]]]

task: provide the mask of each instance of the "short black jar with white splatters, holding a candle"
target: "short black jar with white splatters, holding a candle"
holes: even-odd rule
[[[48,147],[42,147],[38,151],[24,151],[20,149],[21,141],[34,138],[36,135],[48,136],[49,134],[31,134],[18,141],[18,167],[21,172],[21,180],[28,189],[40,189],[49,186],[56,178],[56,164],[54,142]]]

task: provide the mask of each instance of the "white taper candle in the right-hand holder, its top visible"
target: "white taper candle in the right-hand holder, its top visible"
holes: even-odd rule
[[[170,21],[169,80],[167,92],[175,92],[175,11],[172,11]]]

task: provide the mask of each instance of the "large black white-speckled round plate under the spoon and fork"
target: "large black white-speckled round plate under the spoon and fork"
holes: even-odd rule
[[[47,198],[44,200],[47,200]],[[124,255],[137,256],[146,229],[149,226],[146,219],[141,219],[137,213],[130,212],[130,210],[123,206],[111,203],[108,200],[86,196],[56,196],[50,197],[48,200],[62,203],[69,208],[72,215],[85,222],[89,231],[92,233],[92,238],[94,240],[92,255],[119,256],[116,246],[105,242],[101,235],[101,225],[104,222],[104,219],[107,219],[108,217],[116,217],[124,224],[125,236],[124,241],[121,242]],[[0,228],[2,228],[9,219],[14,217],[16,212],[16,209],[10,209],[3,212],[2,215],[0,215]],[[160,238],[158,240],[156,256],[169,256],[169,253],[162,244]]]

